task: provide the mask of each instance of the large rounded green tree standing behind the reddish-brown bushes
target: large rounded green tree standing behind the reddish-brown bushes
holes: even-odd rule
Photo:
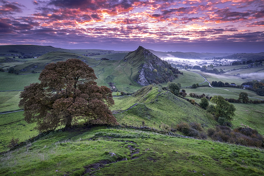
[[[235,106],[224,99],[222,96],[213,96],[210,100],[215,105],[213,106],[213,112],[217,120],[230,121],[235,116]]]

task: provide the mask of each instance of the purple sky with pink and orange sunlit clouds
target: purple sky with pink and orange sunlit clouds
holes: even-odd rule
[[[264,52],[264,0],[0,0],[0,45]]]

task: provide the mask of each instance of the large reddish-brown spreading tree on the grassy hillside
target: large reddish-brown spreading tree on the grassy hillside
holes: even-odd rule
[[[36,123],[39,131],[54,130],[83,119],[89,123],[117,123],[108,107],[114,104],[112,92],[97,86],[94,70],[79,59],[50,63],[39,76],[40,83],[26,86],[19,107],[25,121]]]

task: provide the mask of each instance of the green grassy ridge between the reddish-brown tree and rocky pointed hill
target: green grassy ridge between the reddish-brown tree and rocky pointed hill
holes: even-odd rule
[[[140,103],[128,111],[115,114],[117,121],[123,125],[145,126],[159,129],[161,122],[172,126],[183,122],[198,122],[207,129],[217,123],[212,116],[184,99],[174,96],[169,91],[151,84],[139,89],[133,96],[115,98],[111,110],[126,110],[135,103]],[[175,125],[173,125],[175,124]]]

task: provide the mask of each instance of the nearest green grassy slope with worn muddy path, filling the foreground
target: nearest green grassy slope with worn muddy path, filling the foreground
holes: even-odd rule
[[[109,152],[117,156],[111,157]],[[138,130],[79,128],[50,133],[0,155],[0,174],[82,175],[91,168],[84,175],[253,176],[264,174],[263,153],[255,148]],[[122,158],[127,161],[111,163]],[[91,165],[99,162],[111,164],[100,170]]]

